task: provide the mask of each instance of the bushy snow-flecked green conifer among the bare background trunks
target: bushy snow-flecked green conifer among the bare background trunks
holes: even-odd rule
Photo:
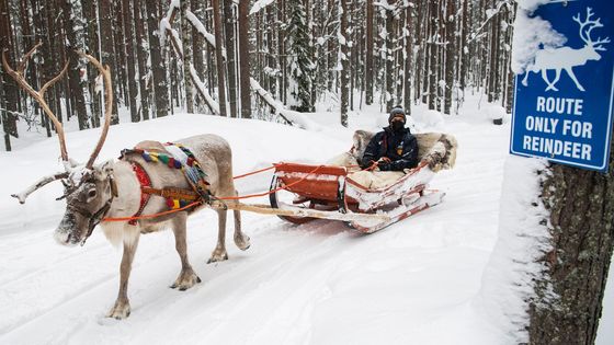
[[[297,112],[314,112],[311,88],[314,85],[314,62],[309,49],[309,27],[307,13],[302,1],[291,2],[291,21],[287,27],[288,66],[291,69],[288,105]]]

